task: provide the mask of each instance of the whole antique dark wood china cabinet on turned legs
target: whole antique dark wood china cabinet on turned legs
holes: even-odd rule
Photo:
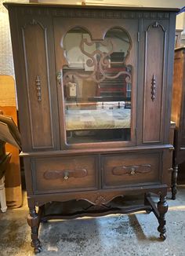
[[[154,212],[165,240],[177,9],[5,6],[31,246],[41,250],[41,221],[136,210]],[[125,205],[134,195],[142,204]],[[63,213],[65,202],[84,207]]]

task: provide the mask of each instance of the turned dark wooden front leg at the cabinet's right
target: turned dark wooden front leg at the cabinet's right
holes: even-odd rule
[[[169,205],[166,202],[166,196],[161,195],[160,196],[160,201],[158,202],[158,212],[159,212],[159,217],[158,217],[158,232],[160,232],[160,238],[162,240],[166,239],[166,229],[165,229],[165,214],[168,211]]]

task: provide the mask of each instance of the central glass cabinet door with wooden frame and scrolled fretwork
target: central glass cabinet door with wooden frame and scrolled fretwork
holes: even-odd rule
[[[136,144],[137,32],[136,20],[54,19],[63,147]]]

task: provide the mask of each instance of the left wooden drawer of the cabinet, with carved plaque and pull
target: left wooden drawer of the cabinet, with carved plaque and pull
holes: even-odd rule
[[[34,193],[97,188],[96,157],[67,156],[32,159]]]

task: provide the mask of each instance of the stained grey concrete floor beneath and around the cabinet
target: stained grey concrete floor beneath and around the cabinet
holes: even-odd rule
[[[0,213],[1,256],[34,255],[24,201],[23,207]],[[185,186],[179,187],[175,201],[168,202],[163,242],[153,213],[49,221],[40,227],[43,249],[39,256],[185,256]]]

